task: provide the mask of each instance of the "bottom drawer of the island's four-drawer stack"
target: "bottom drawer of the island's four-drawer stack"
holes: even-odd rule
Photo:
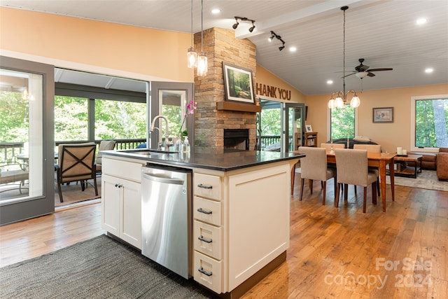
[[[195,277],[195,281],[216,293],[222,293],[221,268],[220,261],[195,251],[193,277]]]

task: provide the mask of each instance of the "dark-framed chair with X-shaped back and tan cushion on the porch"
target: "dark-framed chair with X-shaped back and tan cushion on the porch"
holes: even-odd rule
[[[94,166],[95,150],[97,145],[94,142],[86,144],[59,144],[57,165],[57,190],[59,200],[64,202],[62,197],[63,183],[80,181],[81,190],[85,190],[87,180],[93,180],[95,195],[98,195],[97,176]]]

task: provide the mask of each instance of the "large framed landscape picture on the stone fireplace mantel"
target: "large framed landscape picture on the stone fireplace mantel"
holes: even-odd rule
[[[225,100],[255,105],[252,71],[223,62]]]

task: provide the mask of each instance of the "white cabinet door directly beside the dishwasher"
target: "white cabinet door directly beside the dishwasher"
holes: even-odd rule
[[[141,184],[121,180],[123,212],[120,237],[141,249]]]

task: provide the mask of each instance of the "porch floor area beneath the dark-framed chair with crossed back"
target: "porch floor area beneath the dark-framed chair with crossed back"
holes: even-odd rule
[[[59,193],[57,193],[57,183],[55,183],[55,207],[101,197],[101,178],[97,178],[98,195],[95,195],[95,189],[92,187],[93,181],[90,180],[90,182],[92,184],[87,184],[87,188],[84,191],[81,190],[81,186],[79,183],[77,184],[73,182],[69,185],[62,185],[62,198],[64,199],[64,202],[61,202],[59,200]]]

